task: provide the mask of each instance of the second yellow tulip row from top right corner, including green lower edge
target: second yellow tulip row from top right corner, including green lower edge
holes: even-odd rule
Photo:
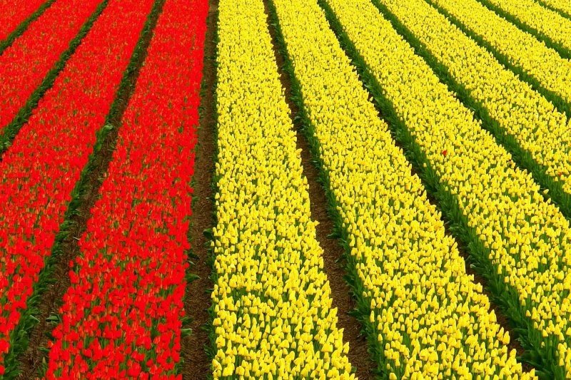
[[[482,3],[570,58],[571,19],[534,0],[482,0]]]

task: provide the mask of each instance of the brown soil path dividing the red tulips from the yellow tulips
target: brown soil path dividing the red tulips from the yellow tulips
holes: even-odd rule
[[[206,39],[204,41],[204,66],[201,93],[201,117],[196,145],[196,162],[193,175],[192,222],[188,232],[193,262],[190,269],[198,276],[186,285],[184,309],[191,318],[192,334],[182,339],[181,356],[183,379],[206,379],[210,373],[210,360],[206,354],[209,345],[208,307],[211,305],[211,267],[208,264],[208,237],[203,232],[216,225],[214,215],[214,190],[212,187],[216,163],[216,28],[218,0],[208,1]]]

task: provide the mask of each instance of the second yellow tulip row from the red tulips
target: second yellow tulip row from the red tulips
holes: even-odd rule
[[[310,129],[348,231],[357,292],[390,379],[522,376],[420,178],[378,118],[316,0],[273,0]],[[526,374],[526,376],[529,374]],[[530,376],[531,377],[531,376]],[[420,378],[420,377],[419,377]]]

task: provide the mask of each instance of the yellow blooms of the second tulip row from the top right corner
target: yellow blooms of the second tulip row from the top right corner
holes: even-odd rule
[[[551,41],[560,43],[566,49],[571,49],[571,19],[541,6],[534,0],[487,1],[506,14],[515,17],[522,24],[530,26],[533,30],[550,38]]]

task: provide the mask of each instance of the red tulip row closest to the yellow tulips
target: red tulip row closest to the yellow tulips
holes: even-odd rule
[[[166,0],[54,330],[47,377],[180,378],[206,0]]]

